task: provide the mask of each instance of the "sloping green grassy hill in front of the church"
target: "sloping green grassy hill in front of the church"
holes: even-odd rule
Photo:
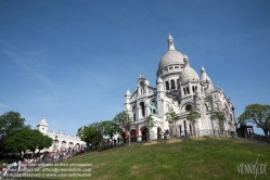
[[[255,164],[256,160],[268,165],[267,175],[258,172],[256,179],[270,179],[269,146],[239,138],[198,138],[134,143],[86,153],[65,164],[92,164],[90,178],[72,179],[239,180],[255,179],[255,173],[245,173],[245,170],[240,173],[237,165]]]

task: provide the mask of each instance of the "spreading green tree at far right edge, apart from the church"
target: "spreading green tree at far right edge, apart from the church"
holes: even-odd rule
[[[253,123],[263,130],[266,138],[270,130],[270,105],[267,104],[249,104],[245,107],[245,112],[239,116],[240,123]]]

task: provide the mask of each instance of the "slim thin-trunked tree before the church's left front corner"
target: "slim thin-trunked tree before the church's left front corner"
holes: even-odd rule
[[[115,115],[113,121],[118,125],[119,127],[124,128],[128,131],[128,142],[130,145],[130,129],[132,125],[132,118],[129,116],[127,111],[123,111],[121,113],[118,113]]]

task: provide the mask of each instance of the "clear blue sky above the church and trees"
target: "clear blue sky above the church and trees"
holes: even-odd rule
[[[20,112],[33,128],[46,117],[73,134],[113,119],[140,74],[155,87],[170,33],[237,117],[270,104],[269,17],[268,0],[1,0],[0,114]]]

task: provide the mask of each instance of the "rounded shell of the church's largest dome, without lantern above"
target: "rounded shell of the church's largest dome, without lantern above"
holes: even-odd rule
[[[177,50],[169,50],[167,51],[158,64],[158,69],[175,64],[184,64],[183,63],[183,54]]]

